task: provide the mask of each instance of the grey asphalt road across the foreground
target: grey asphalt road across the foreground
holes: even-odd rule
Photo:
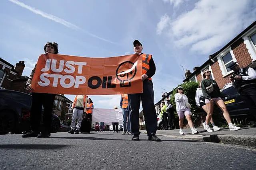
[[[158,136],[52,133],[50,138],[0,136],[0,169],[255,169],[256,150]]]

